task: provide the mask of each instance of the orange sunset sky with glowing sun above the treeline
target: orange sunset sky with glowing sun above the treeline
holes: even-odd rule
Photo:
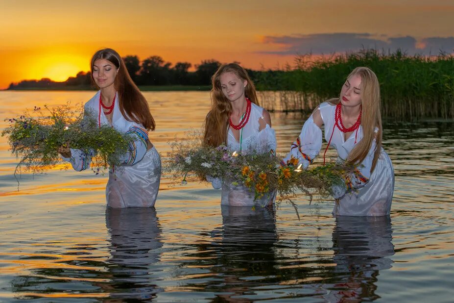
[[[252,69],[362,46],[452,53],[453,16],[452,0],[0,0],[0,88],[66,80],[105,47],[141,60]]]

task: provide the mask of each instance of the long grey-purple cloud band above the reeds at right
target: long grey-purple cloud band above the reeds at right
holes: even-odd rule
[[[265,51],[265,53],[282,55],[295,53],[328,54],[362,49],[382,51],[396,51],[400,49],[408,54],[437,54],[440,50],[452,53],[454,49],[454,37],[429,37],[420,42],[418,44],[418,41],[411,36],[373,36],[369,33],[266,36],[263,39],[263,43],[276,44],[281,47],[279,51]]]

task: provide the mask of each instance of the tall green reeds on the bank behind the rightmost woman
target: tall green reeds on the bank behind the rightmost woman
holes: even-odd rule
[[[454,120],[454,56],[407,55],[402,51],[295,58],[296,68],[255,75],[259,90],[276,91],[264,106],[271,110],[310,111],[339,95],[346,76],[358,66],[371,68],[382,92],[382,115],[388,118]],[[262,97],[264,94],[261,94]]]

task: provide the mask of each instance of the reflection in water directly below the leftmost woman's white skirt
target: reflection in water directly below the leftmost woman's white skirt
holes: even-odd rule
[[[156,284],[162,247],[156,210],[148,207],[107,208],[106,226],[112,257],[108,260],[108,283],[98,286],[112,299],[146,300],[162,291]]]

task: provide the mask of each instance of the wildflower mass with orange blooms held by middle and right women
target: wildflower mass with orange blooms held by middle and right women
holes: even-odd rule
[[[222,183],[243,185],[255,192],[255,199],[277,190],[280,199],[288,199],[304,192],[312,199],[312,193],[327,197],[335,186],[345,186],[344,176],[353,171],[345,163],[331,162],[324,166],[301,169],[296,158],[282,164],[282,158],[274,153],[229,151],[224,145],[208,147],[200,144],[196,133],[183,142],[170,143],[170,160],[165,171],[174,180],[206,181],[220,179]]]

